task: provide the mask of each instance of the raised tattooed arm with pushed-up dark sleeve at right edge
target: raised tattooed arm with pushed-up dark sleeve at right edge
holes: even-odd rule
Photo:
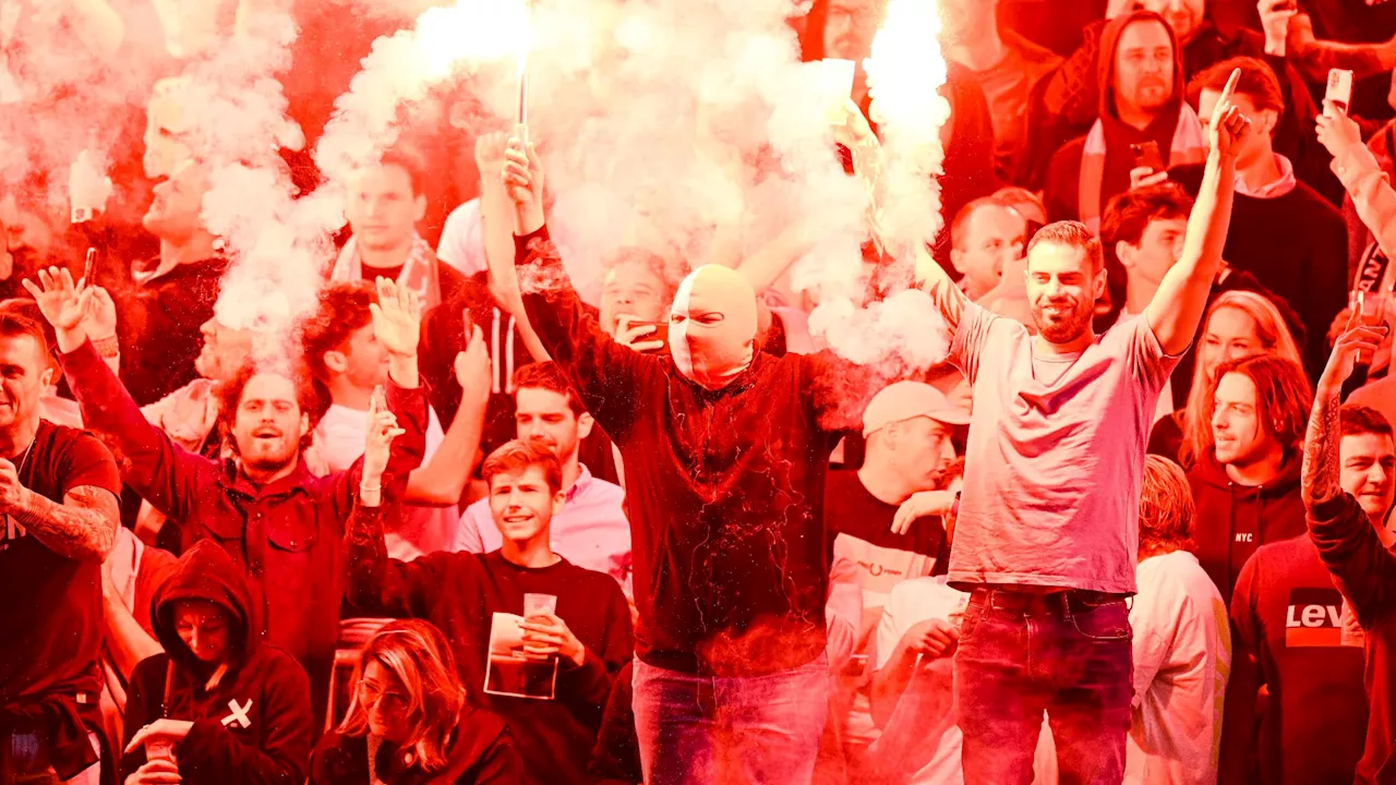
[[[1328,367],[1314,394],[1314,411],[1304,436],[1304,471],[1300,493],[1308,511],[1309,538],[1339,589],[1353,605],[1358,622],[1369,627],[1388,613],[1396,592],[1396,556],[1382,546],[1376,528],[1339,485],[1343,381],[1353,373],[1360,352],[1371,356],[1383,334],[1362,325],[1354,314],[1337,338]]]

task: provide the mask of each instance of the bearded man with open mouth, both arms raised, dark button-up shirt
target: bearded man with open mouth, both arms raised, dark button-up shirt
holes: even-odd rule
[[[362,461],[321,478],[306,468],[302,450],[317,409],[309,380],[272,362],[243,365],[218,388],[218,422],[232,455],[188,453],[147,422],[92,348],[82,325],[91,292],[75,288],[67,271],[40,272],[40,281],[31,291],[57,330],[63,372],[84,422],[128,461],[126,483],[180,525],[183,548],[215,539],[247,571],[268,643],[306,666],[315,711],[322,711],[343,595],[339,538]],[[422,462],[427,422],[416,356],[420,303],[383,278],[378,302],[374,328],[389,358],[387,401],[406,430],[394,441],[392,485],[384,493],[401,499]]]

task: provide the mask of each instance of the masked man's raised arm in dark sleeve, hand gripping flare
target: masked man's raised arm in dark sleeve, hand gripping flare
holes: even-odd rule
[[[514,203],[514,275],[529,324],[577,387],[586,411],[614,440],[635,416],[637,388],[663,384],[663,360],[621,346],[582,307],[543,221],[543,166],[515,134],[504,158],[504,186]]]

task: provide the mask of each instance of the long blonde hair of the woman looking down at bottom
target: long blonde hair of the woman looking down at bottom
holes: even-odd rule
[[[445,636],[427,622],[392,622],[364,644],[355,666],[355,684],[363,679],[370,662],[392,673],[408,691],[412,731],[402,746],[416,753],[426,771],[445,765],[451,732],[465,704],[465,687],[456,676],[455,658]],[[357,689],[352,693],[339,732],[345,736],[369,735],[369,711],[359,703]]]

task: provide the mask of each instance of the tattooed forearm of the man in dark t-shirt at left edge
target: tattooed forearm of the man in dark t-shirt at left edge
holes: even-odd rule
[[[68,559],[105,559],[116,543],[120,511],[110,490],[74,487],[63,504],[34,493],[29,507],[11,513],[49,550]]]

